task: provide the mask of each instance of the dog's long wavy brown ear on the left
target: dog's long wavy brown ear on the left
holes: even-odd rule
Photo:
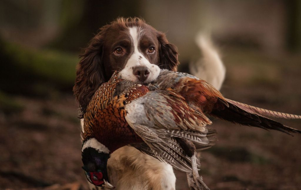
[[[73,87],[74,95],[80,106],[79,118],[83,118],[91,97],[104,83],[104,69],[102,63],[104,28],[89,42],[85,52],[81,54],[76,68],[76,78]]]

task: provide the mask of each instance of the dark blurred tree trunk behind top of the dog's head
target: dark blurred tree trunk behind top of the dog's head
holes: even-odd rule
[[[62,13],[68,12],[73,1],[63,1],[63,3]],[[64,31],[48,47],[78,52],[79,48],[85,47],[101,26],[117,17],[141,16],[138,11],[141,10],[139,0],[89,0],[81,4],[83,9],[81,18],[72,25],[67,25],[67,28],[63,27]],[[76,13],[69,12],[69,14]]]

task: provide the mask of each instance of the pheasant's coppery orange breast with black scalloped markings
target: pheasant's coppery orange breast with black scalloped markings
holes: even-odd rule
[[[125,87],[127,87],[125,92],[120,93],[120,90]],[[116,96],[118,91],[119,94]],[[124,105],[147,92],[145,86],[123,81],[117,75],[102,84],[95,92],[85,113],[82,139],[95,137],[111,152],[133,142],[142,142],[126,122]]]

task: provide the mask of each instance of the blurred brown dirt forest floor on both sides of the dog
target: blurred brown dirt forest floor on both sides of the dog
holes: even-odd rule
[[[300,58],[227,50],[221,91],[229,99],[301,115]],[[87,189],[72,94],[11,98],[22,109],[0,110],[0,189]],[[301,121],[280,121],[301,129]],[[301,189],[301,135],[220,120],[211,127],[219,141],[201,152],[200,170],[211,189]],[[177,189],[187,189],[185,173],[176,175]]]

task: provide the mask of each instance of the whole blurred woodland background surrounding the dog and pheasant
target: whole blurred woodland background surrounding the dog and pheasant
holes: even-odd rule
[[[180,71],[212,33],[233,100],[301,115],[301,1],[0,1],[0,189],[87,189],[72,87],[80,48],[119,16],[142,17],[178,47]],[[282,121],[301,129],[300,121]],[[301,136],[212,126],[202,152],[211,189],[300,189]],[[187,189],[177,172],[177,189]]]

